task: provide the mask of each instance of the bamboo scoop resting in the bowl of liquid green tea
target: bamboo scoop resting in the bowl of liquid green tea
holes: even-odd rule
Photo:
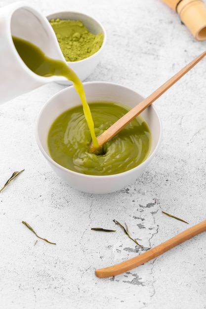
[[[156,89],[152,94],[150,94],[146,99],[136,105],[123,117],[118,119],[110,128],[105,130],[101,135],[97,137],[99,147],[104,143],[114,137],[118,132],[120,132],[130,121],[132,121],[136,116],[138,116],[142,111],[144,111],[148,106],[150,106],[155,100],[157,100],[167,89],[169,89],[177,80],[179,80],[183,75],[190,71],[201,59],[206,56],[206,51],[192,60],[188,65],[186,65],[182,70],[176,73],[173,77],[168,79],[162,86]],[[93,153],[96,148],[90,144],[90,152]]]

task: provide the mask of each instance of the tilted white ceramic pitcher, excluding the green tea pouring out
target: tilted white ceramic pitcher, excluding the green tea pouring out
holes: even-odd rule
[[[19,56],[12,36],[26,39],[46,56],[65,61],[56,35],[46,17],[25,2],[0,8],[0,103],[63,77],[41,77],[32,72]],[[66,63],[66,61],[65,61]],[[66,79],[66,78],[65,78]]]

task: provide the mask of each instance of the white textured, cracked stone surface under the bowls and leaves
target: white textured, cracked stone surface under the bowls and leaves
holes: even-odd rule
[[[26,2],[45,15],[75,10],[99,19],[107,46],[87,81],[120,83],[145,97],[206,50],[206,41],[196,41],[161,0]],[[0,184],[25,169],[0,193],[0,308],[206,309],[205,232],[121,275],[94,275],[206,219],[206,59],[154,103],[164,127],[159,153],[116,193],[75,191],[41,155],[37,117],[63,88],[47,84],[0,106]],[[113,219],[128,225],[143,250]],[[56,246],[36,243],[22,220]]]

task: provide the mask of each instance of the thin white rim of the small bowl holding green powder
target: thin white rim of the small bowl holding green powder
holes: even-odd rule
[[[78,60],[78,61],[66,61],[68,64],[70,64],[70,63],[83,63],[83,62],[85,62],[86,60],[88,60],[88,59],[92,59],[93,57],[95,57],[97,54],[99,54],[102,50],[103,50],[103,48],[105,47],[105,45],[106,45],[106,41],[107,41],[107,33],[106,33],[106,30],[105,30],[105,28],[104,28],[104,26],[102,25],[102,23],[99,21],[99,20],[97,20],[96,18],[94,18],[93,16],[91,16],[91,15],[88,15],[88,14],[85,14],[85,13],[83,13],[83,12],[78,12],[78,11],[58,11],[58,12],[53,12],[53,13],[50,13],[50,14],[48,14],[48,15],[46,15],[45,17],[47,18],[47,20],[49,21],[49,16],[51,16],[51,15],[56,15],[56,14],[62,14],[62,13],[72,13],[72,14],[77,14],[77,15],[82,15],[82,16],[85,16],[85,17],[89,17],[90,19],[93,19],[99,26],[100,26],[100,28],[102,29],[102,33],[103,33],[103,42],[102,42],[102,45],[101,45],[101,47],[93,54],[93,55],[91,55],[91,56],[89,56],[89,57],[86,57],[86,58],[84,58],[84,59],[81,59],[81,60]]]

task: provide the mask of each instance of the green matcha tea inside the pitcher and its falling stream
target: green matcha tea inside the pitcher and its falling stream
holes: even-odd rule
[[[14,36],[12,39],[18,54],[27,67],[34,73],[43,77],[63,76],[73,82],[82,101],[84,116],[90,130],[92,143],[95,148],[98,148],[99,145],[94,132],[94,122],[79,77],[67,66],[66,62],[47,57],[43,51],[33,43]]]

